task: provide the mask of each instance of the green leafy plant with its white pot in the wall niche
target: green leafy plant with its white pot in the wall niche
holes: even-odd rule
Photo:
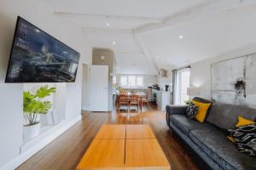
[[[40,122],[38,114],[47,114],[51,109],[51,102],[43,99],[55,93],[56,88],[49,88],[47,85],[37,90],[36,94],[29,91],[23,93],[23,112],[27,124],[23,126],[23,139],[31,139],[38,135]]]

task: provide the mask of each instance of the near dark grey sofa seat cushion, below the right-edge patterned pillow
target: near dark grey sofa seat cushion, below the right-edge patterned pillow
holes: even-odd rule
[[[219,130],[195,129],[190,131],[189,137],[224,169],[256,169],[256,157],[241,154]]]

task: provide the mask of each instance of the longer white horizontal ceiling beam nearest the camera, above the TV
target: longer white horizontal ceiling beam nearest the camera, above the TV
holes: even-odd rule
[[[55,11],[56,15],[61,17],[81,17],[85,19],[95,19],[95,20],[122,20],[122,21],[137,21],[137,22],[150,22],[150,23],[160,23],[161,18],[156,17],[145,17],[145,16],[127,16],[127,15],[109,15],[109,14],[81,14],[72,12],[61,12]]]

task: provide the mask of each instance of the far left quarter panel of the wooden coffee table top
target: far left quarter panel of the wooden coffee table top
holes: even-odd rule
[[[102,125],[95,139],[125,139],[125,125]]]

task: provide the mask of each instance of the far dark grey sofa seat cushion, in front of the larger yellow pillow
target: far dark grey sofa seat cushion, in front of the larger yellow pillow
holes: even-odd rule
[[[207,122],[197,122],[195,120],[189,119],[185,115],[171,115],[170,122],[174,124],[178,129],[180,129],[184,134],[189,136],[189,131],[193,129],[217,129],[210,123]]]

